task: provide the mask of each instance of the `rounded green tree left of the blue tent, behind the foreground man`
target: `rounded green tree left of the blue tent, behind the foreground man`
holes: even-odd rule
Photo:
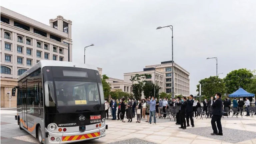
[[[226,87],[223,82],[223,79],[210,76],[209,78],[205,78],[199,81],[201,84],[201,95],[206,96],[209,99],[211,96],[214,96],[216,92],[220,92],[224,95],[226,93]],[[197,90],[199,92],[199,84],[197,85]]]

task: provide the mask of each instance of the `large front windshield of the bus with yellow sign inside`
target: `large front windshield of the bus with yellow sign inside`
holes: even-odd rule
[[[49,101],[57,102],[58,106],[100,104],[99,90],[96,82],[54,81],[54,84],[48,82],[48,88]],[[53,89],[56,91],[57,100],[54,100]]]

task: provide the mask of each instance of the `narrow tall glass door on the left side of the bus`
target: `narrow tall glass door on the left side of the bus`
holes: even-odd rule
[[[22,119],[23,119],[23,127],[27,127],[27,81],[22,83]]]

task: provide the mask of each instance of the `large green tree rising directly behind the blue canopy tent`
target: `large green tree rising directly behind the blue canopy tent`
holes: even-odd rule
[[[247,90],[252,82],[253,74],[250,70],[233,70],[223,79],[227,87],[227,93],[231,94],[240,87]]]

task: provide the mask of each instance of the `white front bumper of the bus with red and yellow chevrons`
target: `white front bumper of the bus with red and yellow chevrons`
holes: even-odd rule
[[[45,132],[49,134],[48,137],[45,138],[46,144],[66,144],[104,137],[106,135],[106,125],[101,128],[83,132],[53,133],[47,129],[45,129]],[[55,140],[52,141],[51,137],[54,137]],[[59,141],[57,141],[57,138]]]

